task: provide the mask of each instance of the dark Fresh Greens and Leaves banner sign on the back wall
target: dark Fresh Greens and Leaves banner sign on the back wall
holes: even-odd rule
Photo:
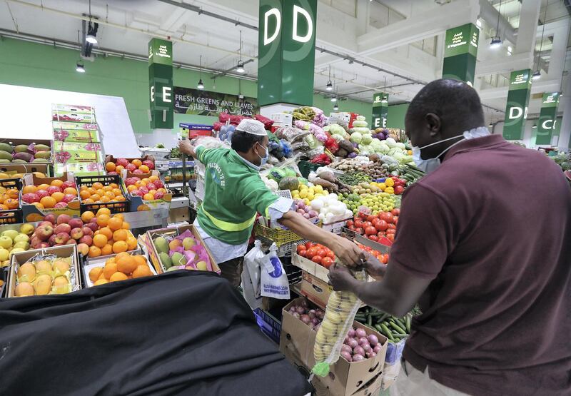
[[[196,116],[218,117],[221,113],[253,116],[260,113],[256,98],[201,89],[174,87],[174,111]]]

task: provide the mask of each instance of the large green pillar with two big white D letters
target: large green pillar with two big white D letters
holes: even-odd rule
[[[260,0],[258,103],[313,105],[317,0]]]

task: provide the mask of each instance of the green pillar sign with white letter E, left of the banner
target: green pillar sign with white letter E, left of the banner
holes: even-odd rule
[[[173,43],[148,42],[148,86],[151,128],[173,128]]]

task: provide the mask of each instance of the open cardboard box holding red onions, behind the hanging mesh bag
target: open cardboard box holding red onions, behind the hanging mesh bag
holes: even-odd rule
[[[298,300],[300,299],[293,300],[283,308],[280,352],[291,362],[300,362],[310,370],[315,365],[313,346],[317,332],[288,312]],[[368,335],[376,335],[383,346],[375,357],[361,362],[348,362],[343,357],[339,357],[339,360],[330,366],[329,375],[318,378],[318,382],[330,392],[330,395],[370,395],[370,392],[380,388],[388,345],[387,339],[379,332],[356,321],[353,322],[353,327],[363,328]]]

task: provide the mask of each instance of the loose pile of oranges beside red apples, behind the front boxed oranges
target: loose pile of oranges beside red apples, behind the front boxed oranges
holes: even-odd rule
[[[111,210],[101,208],[96,214],[86,211],[81,214],[81,220],[86,223],[97,223],[98,230],[94,232],[93,243],[89,246],[89,257],[124,253],[137,247],[137,239],[129,230],[130,225],[124,220],[122,213],[111,216]]]

